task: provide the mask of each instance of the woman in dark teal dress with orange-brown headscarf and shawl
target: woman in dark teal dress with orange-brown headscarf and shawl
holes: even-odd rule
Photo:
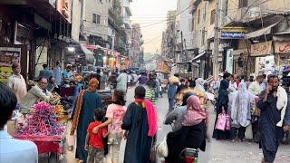
[[[96,92],[98,83],[97,79],[92,78],[88,84],[88,89],[82,90],[75,101],[71,135],[74,134],[75,130],[77,131],[75,158],[78,158],[80,162],[85,162],[88,156],[87,151],[84,149],[84,145],[86,130],[89,124],[94,121],[93,111],[102,108],[101,96]]]

